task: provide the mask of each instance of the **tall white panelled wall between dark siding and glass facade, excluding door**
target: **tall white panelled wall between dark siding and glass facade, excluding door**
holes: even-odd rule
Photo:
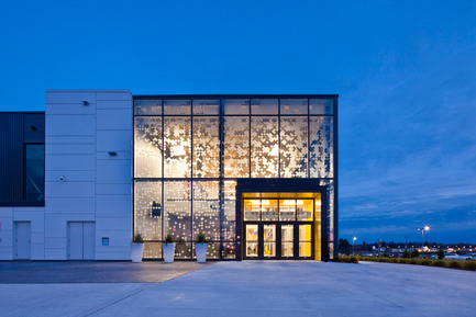
[[[97,260],[130,259],[131,151],[130,91],[46,91],[44,259],[67,259],[68,222],[96,223]]]

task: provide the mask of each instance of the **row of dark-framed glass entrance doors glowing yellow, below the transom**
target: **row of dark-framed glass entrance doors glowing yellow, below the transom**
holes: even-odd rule
[[[313,224],[245,223],[245,259],[312,259]]]

